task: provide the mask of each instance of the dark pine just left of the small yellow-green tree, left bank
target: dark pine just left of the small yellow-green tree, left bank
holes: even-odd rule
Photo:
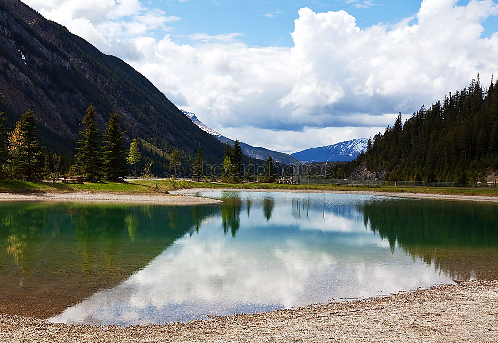
[[[126,149],[124,131],[120,127],[118,112],[110,115],[104,134],[104,177],[109,181],[120,181],[126,177]]]

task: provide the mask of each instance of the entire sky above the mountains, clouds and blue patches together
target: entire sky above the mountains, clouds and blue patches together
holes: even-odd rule
[[[282,152],[375,135],[498,75],[498,0],[25,2],[224,136]]]

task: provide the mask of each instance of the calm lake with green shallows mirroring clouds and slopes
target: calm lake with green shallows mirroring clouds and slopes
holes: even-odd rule
[[[202,192],[202,206],[0,204],[0,312],[188,321],[498,278],[498,204]]]

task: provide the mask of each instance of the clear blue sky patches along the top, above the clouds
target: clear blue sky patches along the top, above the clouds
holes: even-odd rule
[[[411,17],[420,8],[421,0],[373,1],[299,1],[299,0],[151,0],[147,6],[161,8],[168,15],[181,18],[169,32],[178,43],[191,43],[194,33],[219,35],[242,33],[240,40],[250,46],[292,46],[297,11],[309,7],[314,12],[345,10],[357,19],[359,27],[397,22]],[[469,0],[458,1],[465,5]],[[498,20],[484,23],[484,36],[498,31]],[[160,36],[162,32],[157,34]]]

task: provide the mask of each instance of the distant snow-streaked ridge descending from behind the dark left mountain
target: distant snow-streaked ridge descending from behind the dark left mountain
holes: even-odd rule
[[[187,112],[184,110],[181,110],[192,122],[197,125],[199,128],[201,128],[204,132],[207,132],[208,134],[212,135],[216,139],[218,139],[222,143],[227,143],[230,142],[230,144],[234,145],[234,140],[223,136],[222,134],[219,134],[215,130],[211,129],[210,127],[206,126],[203,122],[201,122],[194,113],[192,112]],[[268,156],[272,156],[273,160],[275,162],[280,162],[284,164],[293,164],[296,163],[297,160],[296,158],[285,154],[285,153],[280,153],[278,151],[273,151],[269,150],[263,147],[253,147],[247,143],[240,142],[242,152],[244,155],[252,158],[252,159],[257,159],[257,160],[266,160],[268,159]]]

